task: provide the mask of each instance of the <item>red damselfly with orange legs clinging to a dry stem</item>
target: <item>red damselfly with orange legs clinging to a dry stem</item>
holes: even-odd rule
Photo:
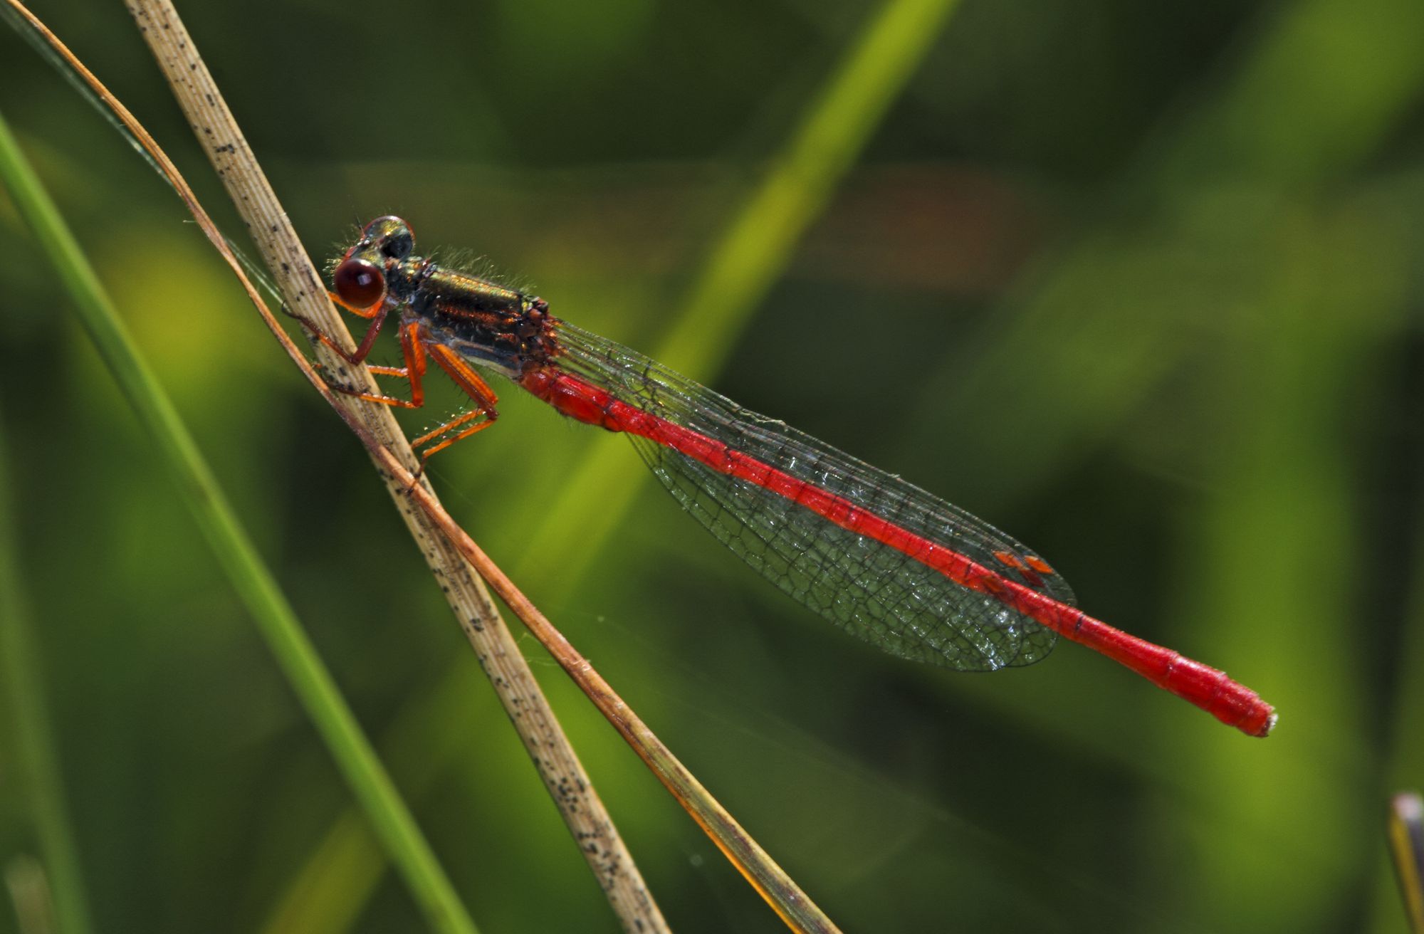
[[[498,399],[476,366],[562,414],[627,434],[682,507],[752,568],[847,632],[956,671],[1031,665],[1068,638],[1223,723],[1266,736],[1276,713],[1223,672],[1115,629],[1074,605],[1042,558],[924,490],[749,411],[665,366],[554,318],[548,303],[416,256],[410,226],[372,221],[333,269],[333,299],[370,320],[362,363],[396,316],[414,409],[433,360],[474,407],[416,439],[424,457],[491,426]]]

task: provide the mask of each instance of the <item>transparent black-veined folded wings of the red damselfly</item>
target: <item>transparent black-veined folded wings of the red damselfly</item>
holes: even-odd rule
[[[1032,551],[924,490],[756,414],[662,364],[567,322],[558,364],[621,402],[815,484],[1004,578],[1072,604]],[[913,557],[842,528],[750,480],[644,437],[634,447],[708,531],[787,595],[901,658],[957,671],[1031,665],[1057,635]]]

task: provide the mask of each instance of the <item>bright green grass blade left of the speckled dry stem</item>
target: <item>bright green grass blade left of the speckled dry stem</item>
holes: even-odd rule
[[[430,925],[439,931],[473,933],[474,923],[400,800],[390,776],[376,759],[276,579],[262,564],[177,410],[141,359],[94,271],[3,120],[0,181],[10,189],[16,206],[68,289],[80,322],[152,439],[218,562],[252,614],[278,665]]]

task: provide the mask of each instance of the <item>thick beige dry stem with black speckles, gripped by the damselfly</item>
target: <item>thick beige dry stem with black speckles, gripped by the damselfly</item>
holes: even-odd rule
[[[278,282],[283,299],[296,313],[316,322],[326,333],[339,335],[347,347],[353,347],[355,343],[350,340],[345,323],[326,298],[326,288],[320,276],[302,249],[296,231],[282,211],[265,175],[258,168],[246,140],[218,94],[208,68],[178,20],[177,11],[171,4],[157,0],[131,0],[127,6],[158,58],[194,132],[236,204],[252,241],[258,245],[262,259]],[[323,364],[340,380],[349,384],[365,382],[375,389],[365,367],[347,367],[325,349],[320,350],[320,355]],[[402,464],[414,468],[416,457],[406,444],[404,434],[390,409],[355,399],[342,399],[340,403],[370,436],[394,451]],[[427,514],[412,505],[406,488],[386,471],[382,471],[382,476],[386,478],[387,490],[412,537],[424,554],[431,574],[470,639],[480,665],[494,685],[500,702],[534,760],[540,777],[624,927],[638,931],[666,930],[662,914],[648,893],[631,854],[614,829],[612,820],[604,810],[602,802],[594,792],[483,582],[440,534]],[[434,495],[429,486],[426,490],[429,495]]]

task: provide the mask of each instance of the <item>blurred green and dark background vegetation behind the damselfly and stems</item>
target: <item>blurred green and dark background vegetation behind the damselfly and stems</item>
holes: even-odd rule
[[[624,440],[506,386],[498,429],[433,464],[451,511],[846,930],[1403,931],[1383,806],[1424,785],[1424,7],[951,4],[768,246],[746,205],[881,9],[184,14],[313,255],[400,214],[1277,705],[1252,740],[1072,645],[991,678],[883,656]],[[122,6],[37,11],[241,229]],[[9,31],[0,60],[0,111],[481,930],[617,930],[357,443],[127,144]],[[95,930],[422,930],[332,836],[345,785],[4,195],[0,238],[4,605],[36,628]],[[716,255],[766,289],[669,347]],[[674,930],[782,930],[521,639]],[[14,762],[4,716],[11,891],[36,853]],[[318,920],[281,921],[303,898]]]

